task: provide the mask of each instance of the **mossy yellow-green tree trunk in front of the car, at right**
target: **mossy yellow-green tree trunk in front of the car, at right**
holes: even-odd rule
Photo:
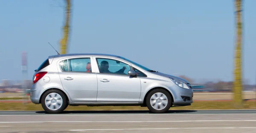
[[[236,107],[242,105],[242,71],[241,71],[241,0],[235,0],[236,5],[236,50],[235,50],[235,67],[234,67],[234,101]]]

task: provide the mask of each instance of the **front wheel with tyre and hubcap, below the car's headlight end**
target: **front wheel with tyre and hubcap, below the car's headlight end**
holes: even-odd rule
[[[146,105],[153,113],[166,113],[172,106],[172,97],[164,89],[154,89],[147,95]]]

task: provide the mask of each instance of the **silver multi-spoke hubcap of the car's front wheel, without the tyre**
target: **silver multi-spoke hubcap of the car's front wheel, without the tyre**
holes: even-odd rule
[[[162,110],[166,108],[167,103],[168,103],[168,99],[166,95],[161,92],[157,92],[153,94],[150,98],[150,104],[156,110]]]

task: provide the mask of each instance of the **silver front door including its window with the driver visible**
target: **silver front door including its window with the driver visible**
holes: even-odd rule
[[[95,58],[97,72],[97,103],[138,103],[141,84],[139,77],[131,77],[131,65],[111,58]]]

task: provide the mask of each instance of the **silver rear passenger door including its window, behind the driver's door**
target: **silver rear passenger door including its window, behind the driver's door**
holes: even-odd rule
[[[96,102],[97,77],[90,69],[91,56],[65,58],[58,61],[63,88],[76,103]]]

